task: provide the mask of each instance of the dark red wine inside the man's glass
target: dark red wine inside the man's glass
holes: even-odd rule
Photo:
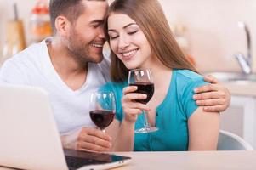
[[[113,122],[115,113],[114,111],[96,110],[90,111],[90,117],[94,124],[103,130]]]

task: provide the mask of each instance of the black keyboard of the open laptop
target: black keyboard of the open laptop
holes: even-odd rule
[[[100,164],[102,161],[96,161],[91,159],[82,159],[80,157],[65,156],[65,161],[70,170],[75,170],[79,167],[92,164]]]

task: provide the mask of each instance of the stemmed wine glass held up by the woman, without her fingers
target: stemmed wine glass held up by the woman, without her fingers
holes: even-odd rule
[[[137,102],[147,104],[154,94],[154,82],[152,81],[150,69],[134,69],[130,70],[128,74],[129,86],[137,86],[137,90],[134,93],[146,94],[146,99],[139,99]],[[147,120],[147,113],[143,110],[144,127],[136,129],[135,133],[152,133],[158,130],[157,127],[151,127]]]

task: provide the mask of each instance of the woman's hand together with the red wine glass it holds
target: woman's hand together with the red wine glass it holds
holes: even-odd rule
[[[158,130],[157,127],[151,127],[147,120],[145,111],[150,109],[146,104],[151,100],[154,94],[154,82],[152,81],[150,69],[134,69],[128,74],[128,88],[123,90],[122,108],[126,117],[134,122],[139,113],[143,113],[144,127],[136,129],[135,133],[152,133]],[[129,115],[129,116],[128,116]]]

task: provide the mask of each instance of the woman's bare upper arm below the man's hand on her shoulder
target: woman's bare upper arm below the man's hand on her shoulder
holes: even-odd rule
[[[216,150],[219,137],[219,114],[198,107],[190,116],[189,150]]]

